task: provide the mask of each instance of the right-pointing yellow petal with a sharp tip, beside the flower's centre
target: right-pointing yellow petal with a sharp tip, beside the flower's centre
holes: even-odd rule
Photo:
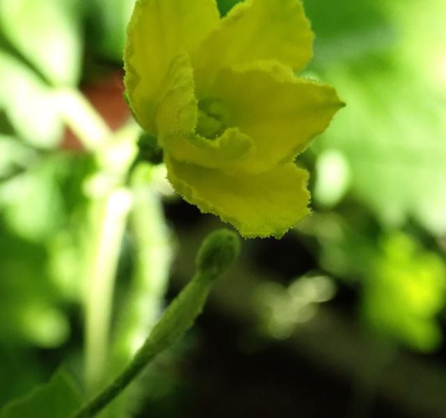
[[[230,126],[253,138],[257,151],[244,161],[244,169],[252,172],[292,161],[344,106],[334,88],[294,77],[278,63],[225,68],[210,95],[230,108]]]

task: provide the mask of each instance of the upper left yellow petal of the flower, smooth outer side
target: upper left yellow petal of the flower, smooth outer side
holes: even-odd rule
[[[193,4],[192,4],[193,3]],[[125,85],[139,124],[151,134],[172,59],[196,49],[218,24],[214,0],[138,0],[127,32]]]

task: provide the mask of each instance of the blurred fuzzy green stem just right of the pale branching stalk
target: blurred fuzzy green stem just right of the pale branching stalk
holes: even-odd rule
[[[132,211],[130,227],[136,247],[132,282],[114,334],[110,378],[122,371],[141,347],[157,323],[166,286],[172,244],[164,219],[158,188],[161,166],[138,163],[130,180]],[[122,417],[127,410],[127,397],[122,394],[108,406],[110,417]]]

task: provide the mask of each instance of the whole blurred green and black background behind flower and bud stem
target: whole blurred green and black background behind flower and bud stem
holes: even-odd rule
[[[133,3],[0,0],[0,406],[60,364],[100,387],[221,226],[147,162],[150,138],[136,147]],[[347,102],[298,157],[312,216],[244,241],[193,330],[103,417],[446,417],[446,3],[304,3],[303,75]]]

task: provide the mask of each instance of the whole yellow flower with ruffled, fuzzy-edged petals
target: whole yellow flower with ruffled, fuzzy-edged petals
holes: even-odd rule
[[[294,76],[312,55],[300,0],[138,0],[125,85],[139,124],[164,148],[185,200],[246,237],[280,237],[305,217],[308,172],[294,158],[343,104]]]

